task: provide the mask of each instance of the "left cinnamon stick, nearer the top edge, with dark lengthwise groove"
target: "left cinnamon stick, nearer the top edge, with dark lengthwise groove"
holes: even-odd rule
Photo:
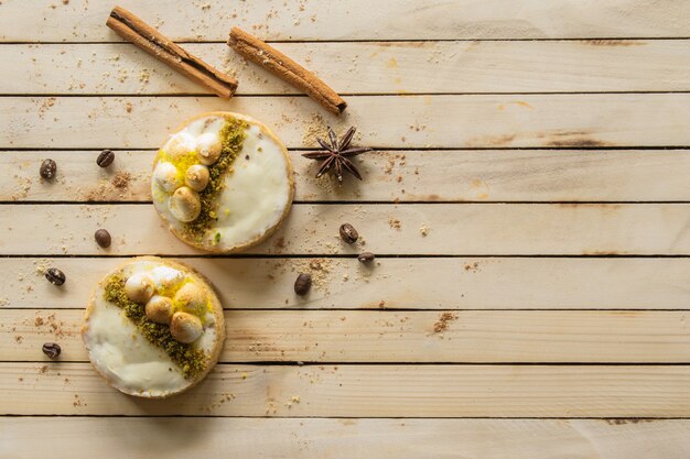
[[[237,80],[212,67],[161,34],[123,8],[115,7],[106,24],[121,37],[132,42],[159,61],[190,79],[205,86],[224,99],[237,89]]]

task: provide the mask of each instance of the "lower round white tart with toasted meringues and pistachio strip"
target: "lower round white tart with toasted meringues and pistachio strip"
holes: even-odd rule
[[[82,338],[110,385],[162,398],[190,389],[215,365],[225,339],[223,307],[191,267],[136,258],[98,283]]]

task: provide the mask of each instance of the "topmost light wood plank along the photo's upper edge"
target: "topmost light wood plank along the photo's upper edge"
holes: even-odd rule
[[[0,39],[4,41],[114,41],[104,26],[112,8],[106,0],[3,0]],[[230,26],[271,40],[369,39],[541,39],[689,36],[683,0],[349,0],[260,3],[209,0],[142,2],[121,0],[173,40],[225,41]],[[41,26],[35,26],[40,24]]]

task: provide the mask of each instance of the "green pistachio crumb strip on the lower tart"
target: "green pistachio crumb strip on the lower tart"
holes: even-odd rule
[[[129,299],[125,293],[125,277],[121,273],[108,277],[104,289],[104,298],[123,309],[125,315],[144,338],[162,349],[180,367],[185,378],[193,378],[206,368],[208,358],[204,351],[175,340],[166,325],[149,320],[144,306]]]

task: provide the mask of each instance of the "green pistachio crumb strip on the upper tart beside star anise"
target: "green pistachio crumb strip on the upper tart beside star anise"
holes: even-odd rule
[[[185,225],[185,231],[197,242],[204,239],[206,231],[218,219],[215,199],[223,189],[225,174],[231,171],[230,165],[242,149],[246,136],[245,130],[248,127],[246,121],[236,118],[226,118],[225,124],[223,129],[220,129],[219,134],[223,147],[218,161],[208,166],[208,185],[200,193],[202,211],[194,221]],[[220,234],[216,233],[214,236],[214,242],[217,243],[219,240]]]

